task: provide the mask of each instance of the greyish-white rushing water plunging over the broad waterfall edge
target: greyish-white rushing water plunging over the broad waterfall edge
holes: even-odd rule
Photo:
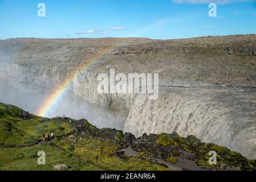
[[[125,122],[125,131],[196,135],[256,158],[255,89],[172,88],[156,101],[140,95]]]

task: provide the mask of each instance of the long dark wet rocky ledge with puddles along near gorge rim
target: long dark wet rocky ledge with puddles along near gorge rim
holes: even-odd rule
[[[116,129],[97,129],[86,119],[74,121],[75,128],[85,138],[110,140],[119,150],[111,155],[128,161],[136,158],[138,161],[147,160],[152,164],[160,164],[174,170],[255,170],[256,160],[250,160],[213,143],[204,143],[200,139],[189,135],[180,137],[176,132],[172,134],[143,134],[135,138],[132,133],[123,133]],[[210,151],[217,154],[217,164],[209,164]]]

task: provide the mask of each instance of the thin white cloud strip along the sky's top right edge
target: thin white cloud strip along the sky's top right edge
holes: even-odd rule
[[[256,0],[172,0],[174,3],[232,3],[232,2],[256,2]]]

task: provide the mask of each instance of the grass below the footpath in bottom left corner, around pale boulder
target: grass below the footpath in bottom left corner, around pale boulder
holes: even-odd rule
[[[38,151],[46,152],[46,165],[38,165]],[[70,170],[99,170],[98,167],[47,144],[26,148],[0,148],[0,170],[51,171],[57,164],[67,164],[71,167]]]

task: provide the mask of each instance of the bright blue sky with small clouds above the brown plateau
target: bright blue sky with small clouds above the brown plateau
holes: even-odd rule
[[[38,3],[46,5],[39,17]],[[217,17],[208,5],[217,4]],[[256,34],[254,0],[0,0],[0,39]]]

